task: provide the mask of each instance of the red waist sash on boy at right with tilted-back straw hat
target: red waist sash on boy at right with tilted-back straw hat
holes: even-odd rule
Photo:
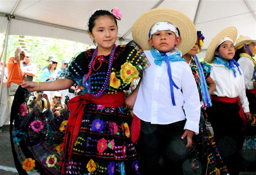
[[[247,118],[244,115],[244,111],[240,102],[240,98],[237,97],[227,97],[227,96],[217,96],[217,95],[211,95],[211,100],[212,101],[217,101],[217,102],[223,102],[223,103],[237,103],[240,110],[239,110],[239,115],[243,120],[243,126],[242,126],[242,131],[245,131],[246,126],[247,126]]]

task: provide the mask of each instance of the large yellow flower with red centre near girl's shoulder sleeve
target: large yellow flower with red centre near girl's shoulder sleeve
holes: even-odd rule
[[[137,68],[131,63],[126,62],[121,65],[120,75],[123,83],[130,84],[136,77],[139,76],[139,71],[137,71]]]

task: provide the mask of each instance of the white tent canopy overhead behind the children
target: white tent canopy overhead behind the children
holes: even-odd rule
[[[91,12],[114,7],[118,7],[123,15],[122,20],[118,21],[117,44],[132,40],[133,23],[142,13],[162,7],[179,10],[194,21],[197,30],[205,36],[204,50],[219,31],[229,26],[238,28],[238,37],[245,35],[256,39],[255,0],[0,0],[0,32],[6,32],[10,19],[9,35],[41,36],[93,44],[87,34]]]

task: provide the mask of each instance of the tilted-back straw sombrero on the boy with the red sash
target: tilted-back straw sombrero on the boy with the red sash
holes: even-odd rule
[[[238,31],[237,31],[236,27],[228,27],[228,28],[220,31],[214,38],[212,38],[212,40],[207,48],[207,52],[205,55],[205,61],[207,63],[212,63],[212,61],[214,61],[216,46],[219,44],[219,42],[223,38],[229,37],[233,40],[233,42],[235,42],[237,39],[237,35],[238,35]]]

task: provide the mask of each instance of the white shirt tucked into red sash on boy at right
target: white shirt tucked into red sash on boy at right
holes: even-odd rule
[[[234,66],[237,71],[237,77],[235,78],[233,70],[228,69],[223,64],[212,63],[211,66],[210,77],[216,84],[215,91],[212,94],[230,98],[239,96],[244,112],[250,112],[245,92],[243,71],[240,69],[242,73],[240,75],[237,66]]]

